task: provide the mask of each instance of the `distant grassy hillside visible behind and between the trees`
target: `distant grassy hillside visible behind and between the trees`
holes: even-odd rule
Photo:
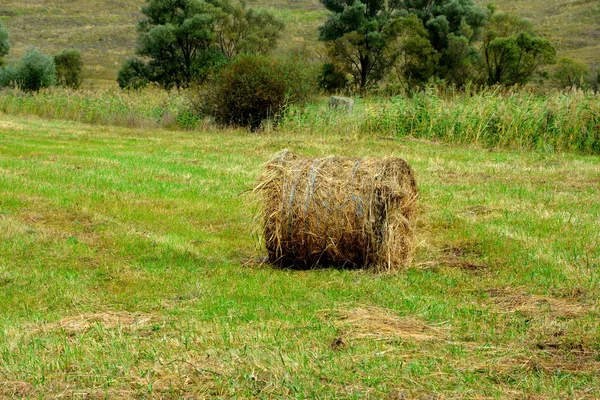
[[[28,46],[47,53],[75,47],[82,51],[88,85],[113,85],[121,62],[133,55],[135,26],[144,0],[3,0],[0,18],[8,28],[18,59]],[[488,3],[485,1],[483,3]],[[598,0],[497,0],[500,11],[530,19],[551,39],[559,54],[600,63],[600,2]],[[252,0],[269,7],[287,23],[278,52],[318,48],[317,27],[327,11],[318,0]]]

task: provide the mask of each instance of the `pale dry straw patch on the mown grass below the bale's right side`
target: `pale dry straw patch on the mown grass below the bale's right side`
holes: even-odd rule
[[[416,318],[400,318],[378,307],[355,308],[336,312],[336,324],[350,339],[438,340],[443,331]]]

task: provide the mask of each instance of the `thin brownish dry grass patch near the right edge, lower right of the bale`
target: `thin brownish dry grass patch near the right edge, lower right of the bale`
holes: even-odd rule
[[[494,300],[495,305],[504,312],[576,317],[585,311],[581,304],[548,296],[527,294],[513,289],[495,289],[488,291],[488,294]]]

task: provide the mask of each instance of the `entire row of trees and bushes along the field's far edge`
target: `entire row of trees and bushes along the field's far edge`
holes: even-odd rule
[[[560,87],[598,89],[600,70],[561,58],[531,23],[474,0],[320,0],[329,11],[319,27],[321,65],[301,57],[274,58],[284,29],[269,10],[237,0],[146,0],[135,56],[121,66],[123,89],[193,87],[199,113],[223,124],[256,127],[291,102],[320,89],[361,93],[386,88],[415,92],[428,84],[522,85],[551,77]],[[77,88],[77,50],[55,56],[30,48],[4,66],[9,35],[0,23],[0,87],[26,91],[59,84]]]

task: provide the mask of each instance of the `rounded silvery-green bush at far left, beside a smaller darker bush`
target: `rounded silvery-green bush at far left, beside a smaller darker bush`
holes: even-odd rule
[[[54,59],[36,48],[27,50],[18,66],[19,88],[25,92],[37,92],[55,82]]]

